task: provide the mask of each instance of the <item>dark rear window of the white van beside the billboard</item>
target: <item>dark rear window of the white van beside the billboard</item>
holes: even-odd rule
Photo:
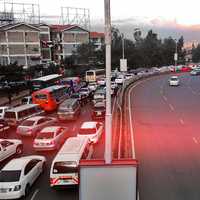
[[[55,162],[53,174],[60,173],[78,173],[78,166],[74,161]]]

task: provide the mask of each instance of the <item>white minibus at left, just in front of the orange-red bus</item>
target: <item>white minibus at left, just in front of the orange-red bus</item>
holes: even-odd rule
[[[4,119],[10,126],[17,126],[23,120],[44,113],[37,104],[25,104],[6,110]]]

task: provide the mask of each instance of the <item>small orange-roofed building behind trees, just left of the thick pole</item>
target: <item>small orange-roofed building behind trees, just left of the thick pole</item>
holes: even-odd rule
[[[94,44],[95,50],[100,50],[105,42],[104,33],[90,32],[90,42]]]

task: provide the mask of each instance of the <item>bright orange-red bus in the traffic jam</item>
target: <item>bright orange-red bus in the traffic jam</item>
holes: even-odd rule
[[[45,111],[54,111],[70,94],[70,87],[54,85],[33,92],[32,99],[34,104],[39,104]]]

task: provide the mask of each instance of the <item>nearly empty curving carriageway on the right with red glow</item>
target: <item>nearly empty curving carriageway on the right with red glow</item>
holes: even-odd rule
[[[200,79],[169,75],[142,81],[131,92],[140,200],[200,199]]]

